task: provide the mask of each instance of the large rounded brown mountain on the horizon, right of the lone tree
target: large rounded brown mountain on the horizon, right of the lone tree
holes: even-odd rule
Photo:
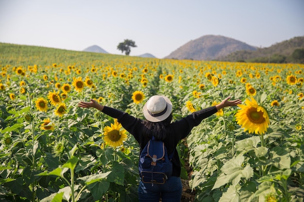
[[[174,50],[167,59],[214,60],[237,50],[256,50],[257,47],[220,35],[205,35]]]

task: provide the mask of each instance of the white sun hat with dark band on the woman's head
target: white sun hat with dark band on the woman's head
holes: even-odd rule
[[[145,118],[151,122],[164,121],[172,111],[172,103],[168,97],[163,95],[153,95],[146,102],[143,113]]]

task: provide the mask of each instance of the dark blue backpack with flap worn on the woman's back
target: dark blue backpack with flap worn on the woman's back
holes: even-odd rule
[[[161,140],[149,140],[139,156],[139,175],[143,183],[165,184],[172,175],[173,154],[168,155]]]

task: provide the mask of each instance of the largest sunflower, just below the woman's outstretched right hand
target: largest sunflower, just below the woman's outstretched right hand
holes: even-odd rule
[[[246,105],[238,105],[241,109],[236,112],[236,122],[249,133],[264,134],[270,124],[267,111],[259,106],[254,98],[246,99]]]

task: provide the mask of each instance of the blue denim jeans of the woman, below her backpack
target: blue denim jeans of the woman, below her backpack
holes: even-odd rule
[[[171,176],[163,185],[139,182],[139,202],[180,202],[183,186],[180,177]]]

